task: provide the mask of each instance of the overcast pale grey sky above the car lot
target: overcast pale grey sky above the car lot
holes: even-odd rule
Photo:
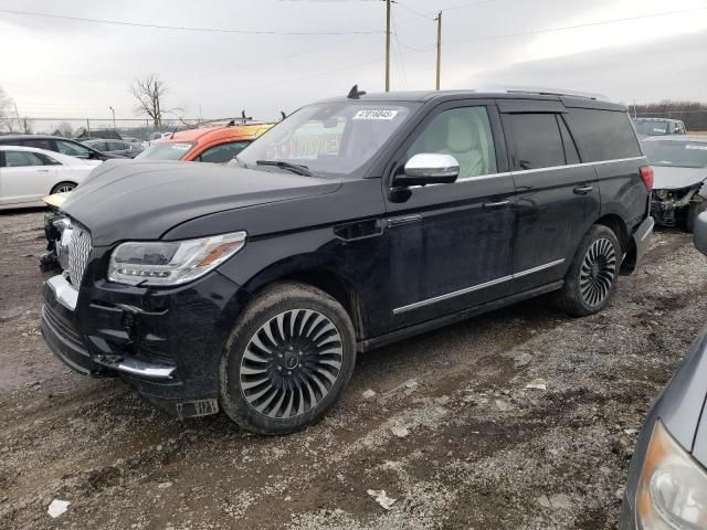
[[[535,85],[627,104],[707,100],[707,9],[697,8],[707,2],[398,0],[392,89],[434,87],[433,19],[442,10],[442,88]],[[0,86],[30,117],[108,118],[113,106],[130,118],[130,81],[155,72],[170,88],[168,106],[184,107],[186,117],[245,108],[275,118],[354,83],[382,91],[384,13],[377,0],[0,0]],[[558,30],[567,26],[574,28]]]

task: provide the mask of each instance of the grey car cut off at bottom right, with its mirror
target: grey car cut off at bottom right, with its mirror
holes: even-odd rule
[[[695,222],[707,254],[707,213]],[[636,443],[620,530],[707,528],[707,326],[648,412]]]

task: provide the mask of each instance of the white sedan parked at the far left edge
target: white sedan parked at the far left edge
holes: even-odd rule
[[[44,206],[42,197],[73,190],[101,163],[34,147],[0,146],[0,210]]]

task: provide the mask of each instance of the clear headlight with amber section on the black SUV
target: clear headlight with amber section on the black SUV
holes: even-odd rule
[[[203,276],[245,245],[245,232],[186,241],[122,243],[110,254],[108,280],[179,285]]]

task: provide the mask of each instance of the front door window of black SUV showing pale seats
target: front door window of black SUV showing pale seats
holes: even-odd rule
[[[425,126],[408,149],[408,159],[421,152],[452,155],[460,179],[496,172],[496,149],[486,107],[444,110]]]

